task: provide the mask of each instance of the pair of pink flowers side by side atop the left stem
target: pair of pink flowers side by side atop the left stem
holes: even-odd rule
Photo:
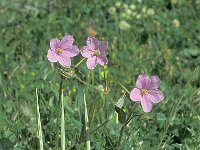
[[[66,35],[59,40],[51,39],[50,49],[48,50],[47,58],[50,62],[59,62],[64,67],[71,66],[71,58],[79,54],[79,48],[73,45],[74,38],[72,35]],[[87,45],[81,49],[83,57],[87,58],[88,69],[94,69],[98,64],[104,66],[108,63],[106,52],[108,42],[99,41],[95,37],[88,37]]]

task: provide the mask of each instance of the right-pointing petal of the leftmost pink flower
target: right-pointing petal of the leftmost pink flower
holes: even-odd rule
[[[64,57],[74,57],[78,55],[78,53],[79,53],[78,47],[75,45],[72,45],[72,46],[67,47],[61,55],[63,55]]]

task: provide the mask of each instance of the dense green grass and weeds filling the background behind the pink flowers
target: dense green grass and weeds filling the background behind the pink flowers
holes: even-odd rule
[[[107,69],[89,71],[84,61],[75,73],[95,87],[107,82],[109,93],[63,81],[66,148],[84,149],[89,138],[91,149],[116,149],[123,117],[116,120],[114,106],[123,86],[130,91],[145,73],[160,77],[165,100],[144,113],[126,94],[125,115],[139,116],[124,129],[121,149],[200,149],[199,14],[199,0],[1,0],[0,149],[39,149],[36,88],[44,149],[61,148],[60,74],[47,60],[49,40],[72,34],[81,48],[94,31],[109,42]]]

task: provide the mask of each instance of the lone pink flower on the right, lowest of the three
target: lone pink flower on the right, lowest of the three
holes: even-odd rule
[[[144,112],[150,112],[153,103],[159,103],[164,99],[163,93],[158,89],[159,86],[158,76],[139,75],[136,88],[130,93],[130,99],[140,101]]]

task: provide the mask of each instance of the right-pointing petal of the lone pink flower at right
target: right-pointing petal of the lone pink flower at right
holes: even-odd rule
[[[159,103],[164,99],[164,94],[160,90],[149,90],[146,97],[153,103]]]

